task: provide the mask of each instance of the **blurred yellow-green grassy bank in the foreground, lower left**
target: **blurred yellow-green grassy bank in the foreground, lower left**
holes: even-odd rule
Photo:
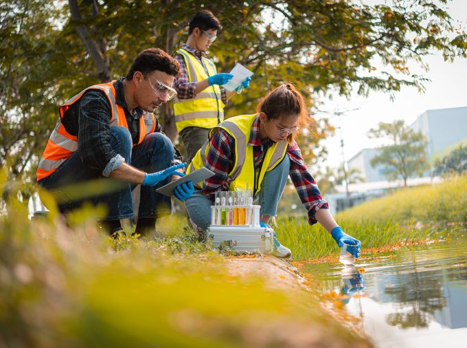
[[[0,190],[1,191],[1,190]],[[71,221],[0,218],[0,347],[370,347],[305,290],[274,290],[166,220],[159,239],[113,241]]]

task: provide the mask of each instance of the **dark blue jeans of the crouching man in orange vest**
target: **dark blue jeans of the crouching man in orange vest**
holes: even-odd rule
[[[125,127],[111,127],[110,144],[116,153],[124,157],[125,162],[142,171],[152,173],[162,171],[172,165],[174,160],[174,146],[170,139],[162,133],[151,133],[141,144],[133,147],[131,135]],[[73,199],[69,196],[66,186],[88,182],[91,180],[105,180],[102,184],[117,187],[112,192],[87,198]],[[170,197],[156,192],[156,188],[167,184],[168,177],[156,186],[141,186],[138,218],[161,217],[172,213]],[[110,185],[108,185],[110,184]],[[78,151],[73,153],[57,170],[39,182],[58,200],[58,208],[62,213],[79,208],[84,202],[93,205],[104,204],[108,208],[105,220],[118,220],[133,217],[133,199],[131,191],[135,184],[103,177],[100,171],[84,166]]]

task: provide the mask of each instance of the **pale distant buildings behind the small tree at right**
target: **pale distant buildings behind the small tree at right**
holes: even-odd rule
[[[421,131],[428,140],[426,153],[431,164],[453,151],[460,144],[467,146],[467,107],[428,110],[418,116],[409,129]],[[367,182],[387,181],[385,171],[388,168],[379,165],[372,167],[371,160],[378,149],[363,149],[348,160],[348,168],[361,171]],[[426,172],[424,176],[429,176]]]

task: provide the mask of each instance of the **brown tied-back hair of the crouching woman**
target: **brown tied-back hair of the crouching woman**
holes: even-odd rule
[[[257,112],[266,113],[267,120],[298,115],[299,129],[308,128],[311,122],[305,99],[292,83],[284,83],[284,85],[270,91],[261,100]],[[287,140],[291,143],[294,138],[295,133],[291,133],[288,135]]]

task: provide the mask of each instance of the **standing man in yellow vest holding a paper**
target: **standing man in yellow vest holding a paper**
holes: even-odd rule
[[[222,30],[219,20],[208,10],[194,15],[190,21],[188,39],[174,57],[181,65],[181,75],[175,79],[174,116],[176,130],[185,145],[185,162],[190,163],[196,151],[207,140],[209,130],[224,120],[227,100],[248,88],[251,78],[242,81],[237,91],[226,91],[231,74],[217,74],[216,65],[205,57],[209,46]]]

